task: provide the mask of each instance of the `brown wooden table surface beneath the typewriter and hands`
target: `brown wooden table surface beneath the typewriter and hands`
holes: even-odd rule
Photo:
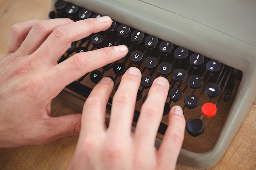
[[[0,2],[0,58],[6,49],[13,24],[47,18],[50,0],[4,0]],[[78,113],[56,98],[52,115]],[[65,137],[41,146],[0,148],[1,170],[65,170],[78,136]],[[196,170],[177,163],[177,170]],[[256,101],[219,163],[209,170],[256,170]]]

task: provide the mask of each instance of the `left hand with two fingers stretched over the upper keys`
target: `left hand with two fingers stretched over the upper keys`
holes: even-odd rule
[[[51,117],[51,101],[79,77],[124,57],[126,46],[77,53],[57,65],[74,41],[111,25],[109,17],[15,24],[0,62],[0,147],[45,144],[79,133],[81,114]]]

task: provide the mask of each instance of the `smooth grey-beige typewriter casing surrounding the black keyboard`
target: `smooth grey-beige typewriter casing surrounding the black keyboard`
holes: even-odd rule
[[[52,10],[54,3],[52,1]],[[174,44],[237,68],[243,77],[215,146],[204,153],[182,149],[178,161],[209,168],[225,153],[256,99],[255,0],[67,0]],[[71,95],[63,91],[62,97]],[[71,95],[72,96],[72,95]],[[70,98],[70,96],[69,96]],[[82,98],[82,97],[81,97]],[[80,107],[83,100],[74,98]],[[156,139],[156,146],[161,139]],[[171,153],[170,153],[171,155]]]

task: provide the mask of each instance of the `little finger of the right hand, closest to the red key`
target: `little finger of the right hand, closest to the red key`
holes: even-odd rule
[[[157,152],[159,169],[175,167],[182,147],[186,122],[180,106],[173,106],[168,116],[168,128]],[[170,156],[171,153],[171,156]]]

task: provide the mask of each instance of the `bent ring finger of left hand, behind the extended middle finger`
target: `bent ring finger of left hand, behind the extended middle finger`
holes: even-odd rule
[[[38,47],[45,41],[45,39],[52,33],[54,29],[56,29],[58,26],[70,24],[72,22],[74,21],[68,18],[57,18],[35,22],[27,34],[26,39],[21,44],[19,53],[22,55],[34,53],[34,51],[38,49]],[[48,49],[45,50],[47,51]]]

